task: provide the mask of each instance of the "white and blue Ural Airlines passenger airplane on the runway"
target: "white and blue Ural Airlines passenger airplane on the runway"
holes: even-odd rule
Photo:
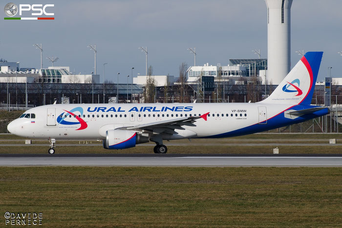
[[[224,138],[297,124],[329,113],[311,105],[323,52],[307,52],[274,92],[257,103],[50,104],[31,108],[8,124],[12,134],[56,140],[98,139],[106,149],[165,140]]]

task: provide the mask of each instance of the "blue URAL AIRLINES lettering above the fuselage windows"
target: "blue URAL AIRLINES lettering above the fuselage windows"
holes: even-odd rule
[[[143,107],[132,107],[128,112],[190,112],[192,111],[192,106],[162,106],[157,108],[156,106],[143,106]],[[122,107],[88,107],[88,112],[127,112]]]

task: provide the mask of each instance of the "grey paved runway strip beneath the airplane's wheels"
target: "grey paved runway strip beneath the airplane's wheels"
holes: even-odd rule
[[[342,155],[2,154],[0,166],[342,167]]]

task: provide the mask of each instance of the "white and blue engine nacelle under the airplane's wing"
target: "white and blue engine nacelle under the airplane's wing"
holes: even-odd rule
[[[150,142],[148,137],[138,135],[135,131],[129,130],[108,130],[106,139],[103,141],[105,149],[127,149],[135,147],[136,144]]]

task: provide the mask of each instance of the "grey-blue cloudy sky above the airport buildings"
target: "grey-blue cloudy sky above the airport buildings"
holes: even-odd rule
[[[10,1],[1,0],[4,7]],[[40,68],[40,52],[34,43],[43,43],[46,57],[59,57],[55,66],[70,71],[94,71],[94,53],[87,45],[97,45],[97,74],[116,82],[124,76],[145,75],[145,54],[154,75],[178,77],[181,62],[193,65],[187,50],[196,47],[196,64],[227,65],[229,59],[257,58],[261,49],[267,58],[267,11],[264,0],[14,0],[15,4],[54,4],[47,12],[54,21],[0,19],[0,58],[21,62],[21,67]],[[332,76],[342,77],[342,1],[293,0],[291,9],[291,66],[300,59],[297,50],[324,51],[319,80],[332,66]],[[3,17],[6,17],[2,10]],[[31,15],[23,15],[31,16]],[[23,17],[21,16],[21,17]],[[19,13],[16,17],[20,17]]]

